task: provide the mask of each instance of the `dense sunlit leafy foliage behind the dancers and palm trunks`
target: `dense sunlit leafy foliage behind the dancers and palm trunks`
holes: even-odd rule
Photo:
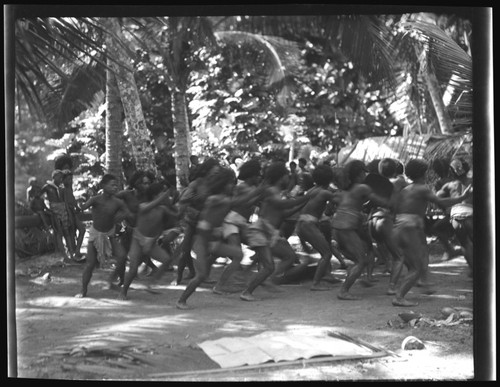
[[[408,76],[411,71],[421,71],[421,66],[416,66],[415,61],[410,61],[408,63],[413,66],[410,68],[408,63],[404,63],[402,57],[394,58],[393,67],[403,70],[401,71],[403,78],[399,83],[403,97],[396,95],[397,100],[395,100],[394,92],[390,91],[390,83],[378,82],[380,77],[377,83],[374,83],[376,77],[367,77],[367,73],[362,67],[366,67],[369,63],[366,61],[356,63],[347,59],[345,52],[341,52],[338,47],[341,45],[341,40],[333,39],[327,34],[328,31],[321,30],[320,25],[316,26],[318,28],[313,26],[315,22],[321,23],[321,18],[311,17],[303,20],[288,18],[286,19],[286,22],[289,23],[288,27],[293,26],[293,28],[285,28],[281,32],[279,28],[286,27],[286,23],[270,23],[269,20],[266,21],[259,17],[221,18],[219,21],[217,18],[212,19],[216,35],[217,33],[221,34],[221,28],[232,32],[238,28],[245,28],[247,31],[255,31],[256,36],[260,36],[258,39],[260,43],[264,40],[265,42],[260,46],[242,44],[241,42],[234,44],[234,42],[231,43],[231,35],[227,35],[225,40],[220,39],[219,36],[220,46],[217,50],[213,50],[213,47],[208,45],[201,45],[200,48],[194,50],[196,45],[191,44],[193,43],[191,40],[195,38],[186,34],[188,40],[179,41],[179,47],[182,49],[179,52],[175,52],[177,47],[175,45],[170,47],[167,44],[165,48],[161,45],[155,46],[151,44],[152,41],[147,42],[146,40],[143,43],[147,44],[130,45],[135,50],[131,52],[130,59],[134,68],[134,77],[147,128],[154,141],[155,162],[162,174],[172,179],[172,182],[175,181],[175,139],[171,101],[173,89],[172,74],[169,72],[172,67],[169,67],[165,52],[162,53],[164,49],[170,50],[169,53],[173,55],[173,58],[179,59],[179,55],[184,55],[181,67],[188,75],[186,96],[187,118],[191,131],[191,153],[202,157],[210,154],[229,159],[230,155],[264,154],[291,159],[303,155],[310,149],[314,149],[316,156],[326,157],[329,155],[331,157],[340,148],[355,142],[357,139],[377,135],[404,134],[403,130],[408,130],[408,119],[414,118],[411,117],[411,114],[416,114],[416,119],[423,123],[433,119],[432,109],[426,108],[422,102],[425,101],[423,84],[419,82],[418,88],[412,86],[411,77]],[[331,17],[327,17],[327,19],[330,24],[331,22],[336,23]],[[344,22],[347,19],[344,18]],[[349,22],[357,22],[355,19],[352,18]],[[277,21],[280,20],[285,21],[283,18],[277,19]],[[395,26],[397,20],[399,19],[388,16],[384,21],[385,24],[382,23],[380,26],[388,27],[390,30]],[[441,17],[439,19],[440,25],[446,25],[448,30],[451,28],[450,35],[459,42],[464,52],[467,51],[467,55],[470,55],[470,39],[467,40],[467,37],[471,36],[470,26],[467,27],[461,20],[459,22],[462,24],[451,19],[444,21]],[[175,22],[179,28],[187,28],[187,26],[182,25],[182,20],[176,19]],[[190,22],[194,23],[195,20]],[[351,27],[349,24],[345,24],[345,26],[348,26],[347,28],[364,26],[373,31],[375,22],[376,20],[365,19],[362,20],[362,24],[351,24]],[[96,21],[93,23],[93,26],[98,26]],[[156,22],[156,24],[148,23],[150,21],[144,24],[146,32],[148,29],[150,32],[170,31],[172,27],[167,28],[166,24],[161,22],[159,24]],[[25,34],[26,31],[31,31],[28,27],[37,26],[36,23],[26,25],[27,27],[22,30]],[[64,25],[64,22],[57,24],[61,30]],[[90,23],[82,24],[78,28],[85,27],[84,29],[88,31],[89,25]],[[201,26],[202,24],[192,25]],[[78,26],[78,23],[75,26]],[[419,28],[425,30],[425,26],[422,26]],[[453,28],[453,26],[460,28]],[[329,33],[332,31],[340,33],[342,30],[340,27],[341,24],[337,23]],[[443,27],[444,29],[445,27]],[[37,29],[33,31],[36,32]],[[94,39],[98,39],[102,32],[99,29],[97,31],[98,33],[94,32],[92,35]],[[136,24],[135,32],[139,33],[140,31],[139,24]],[[262,35],[264,32],[270,33],[271,31],[276,31],[280,36]],[[73,28],[73,32],[76,32],[75,28]],[[208,33],[201,28],[198,32],[199,35]],[[377,30],[378,36],[382,32],[382,29]],[[401,30],[398,32],[394,28],[393,32],[396,35]],[[429,36],[433,39],[424,39],[424,43],[438,41],[440,45],[436,45],[438,48],[436,52],[443,52],[443,45],[447,39],[445,34],[442,31],[431,32],[423,31],[422,36]],[[248,32],[244,33],[248,34]],[[322,33],[324,36],[321,36]],[[351,40],[359,38],[358,41],[363,44],[358,44],[358,49],[366,47],[366,41],[362,39],[360,30],[357,30],[356,34],[359,36],[349,35]],[[158,34],[155,32],[149,35],[156,36]],[[28,36],[31,37],[31,35]],[[33,36],[36,35],[33,34]],[[154,36],[147,39],[154,40]],[[346,47],[346,36],[346,34],[343,36],[343,49]],[[21,41],[25,39],[21,38]],[[47,41],[49,38],[46,38]],[[201,38],[200,41],[202,41]],[[85,44],[90,43],[85,41]],[[417,45],[413,46],[413,44],[415,43],[410,40],[406,42],[405,47],[408,52],[415,51],[414,48]],[[269,53],[266,53],[264,49],[266,45],[274,47],[273,50],[282,61],[280,65],[284,69],[285,76],[279,82],[273,82],[273,79],[270,79],[273,78],[273,72],[270,71],[270,68],[275,66],[275,63],[272,63]],[[188,47],[191,48],[188,50]],[[454,53],[455,56],[461,55],[456,47],[452,47],[454,51],[450,52]],[[40,51],[40,53],[42,52]],[[51,55],[54,57],[53,53]],[[95,58],[97,57],[95,56]],[[467,58],[464,58],[463,63],[467,64]],[[28,59],[27,57],[25,60],[25,69],[29,68]],[[61,76],[59,81],[54,81],[54,84],[58,85],[54,90],[65,92],[65,95],[74,95],[75,83],[72,83],[71,80],[74,82],[80,80],[88,85],[92,84],[92,87],[102,84],[101,81],[90,83],[88,81],[90,78],[84,76],[82,72],[83,67],[75,66],[76,63],[73,65],[71,65],[71,61],[64,63],[64,57],[58,60],[63,64],[61,67],[63,70],[74,70],[72,70],[72,76],[68,74],[62,76],[62,70],[51,75],[49,65],[46,65],[45,69],[39,67],[40,71],[45,72],[47,84],[50,79],[56,79],[56,75]],[[380,60],[376,62],[377,66],[375,67],[378,69],[381,67],[378,65]],[[97,63],[102,64],[103,62],[98,61]],[[466,68],[462,64],[460,66]],[[87,63],[84,67],[89,69]],[[102,72],[102,66],[100,69],[97,67],[92,71],[94,73],[97,70]],[[372,70],[375,67],[372,66]],[[448,67],[438,69],[437,75],[441,84],[446,84],[448,78],[453,78],[453,72],[450,69]],[[467,73],[459,75],[464,77]],[[399,75],[395,73],[395,79],[398,79],[397,76]],[[96,76],[95,79],[100,80],[101,78]],[[455,82],[456,79],[455,76]],[[185,81],[183,80],[183,82]],[[85,90],[87,93],[90,89],[86,88]],[[466,91],[466,96],[469,92],[469,89],[457,90],[461,96],[464,94],[463,90]],[[26,100],[20,98],[17,104],[17,114],[18,117],[22,117],[22,120],[19,119],[19,124],[16,124],[16,166],[19,166],[23,173],[46,178],[50,175],[51,160],[58,153],[68,153],[74,158],[76,170],[84,179],[96,179],[104,170],[106,150],[103,91],[92,95],[92,98],[87,96],[89,100],[92,100],[88,101],[87,104],[83,103],[84,95],[79,95],[81,98],[76,101],[78,102],[77,110],[65,109],[64,106],[74,107],[75,105],[63,104],[63,99],[54,97],[48,92],[48,89],[44,93],[51,97],[48,100],[52,101],[51,106],[60,111],[64,110],[66,113],[68,111],[83,112],[69,124],[66,124],[62,130],[60,128],[50,130],[49,125],[41,124],[29,114],[24,114]],[[416,98],[413,94],[416,94]],[[395,103],[401,105],[405,98],[412,100],[411,104],[407,104],[395,112]],[[61,101],[61,103],[57,105],[57,101]],[[464,111],[464,107],[469,108],[468,105],[463,104],[463,101],[464,98],[461,101],[462,105],[456,105],[457,109],[458,107],[462,109],[460,111]],[[430,102],[426,103],[430,104]],[[408,106],[414,111],[410,112]],[[465,121],[465,123],[467,122]],[[406,125],[405,128],[403,128],[404,125]],[[134,169],[134,162],[125,125],[123,140],[124,147],[121,157],[124,173],[127,176]],[[314,155],[308,153],[308,156],[313,157]],[[44,162],[40,163],[40,158]],[[48,161],[47,166],[45,166],[45,160]],[[75,180],[78,181],[78,179]]]

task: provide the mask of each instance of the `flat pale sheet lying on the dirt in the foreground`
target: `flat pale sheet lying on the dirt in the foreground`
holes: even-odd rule
[[[374,352],[340,338],[288,332],[265,332],[251,337],[223,337],[198,346],[222,368],[268,361],[310,359],[315,356],[367,356]]]

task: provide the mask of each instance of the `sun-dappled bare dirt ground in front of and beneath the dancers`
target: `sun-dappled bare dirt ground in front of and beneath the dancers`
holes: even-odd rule
[[[85,248],[82,250],[85,251]],[[317,381],[317,380],[470,380],[474,378],[471,318],[446,320],[444,307],[472,309],[473,283],[463,257],[441,262],[442,250],[431,244],[431,280],[437,292],[412,289],[419,305],[394,307],[385,294],[388,277],[377,268],[378,282],[352,293],[359,301],[341,301],[339,284],[312,292],[310,278],[283,285],[279,292],[259,287],[258,302],[241,301],[238,293],[216,295],[204,284],[188,300],[191,310],[175,307],[186,281],[171,285],[168,272],[155,289],[146,291],[149,277],[132,283],[129,299],[117,299],[106,287],[111,268],[94,272],[88,297],[80,290],[82,264],[63,265],[56,254],[16,262],[17,369],[20,378],[69,380],[168,381]],[[332,260],[333,274],[345,277]],[[223,265],[212,269],[217,279]],[[243,271],[235,283],[252,275]],[[400,313],[413,311],[421,319],[404,322]],[[197,345],[222,337],[248,337],[266,331],[318,333],[337,331],[388,351],[372,359],[269,363],[262,367],[222,370]],[[414,336],[423,349],[403,350]]]

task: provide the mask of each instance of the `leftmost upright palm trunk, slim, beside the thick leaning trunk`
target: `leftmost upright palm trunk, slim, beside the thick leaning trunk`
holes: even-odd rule
[[[109,61],[108,61],[109,62]],[[106,171],[118,178],[123,187],[122,173],[122,105],[115,75],[106,71]]]

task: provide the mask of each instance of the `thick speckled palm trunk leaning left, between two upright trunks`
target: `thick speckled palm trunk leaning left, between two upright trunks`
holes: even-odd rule
[[[120,26],[115,18],[109,19],[110,30],[117,36],[121,36]],[[134,74],[122,48],[118,44],[109,43],[110,53],[115,61],[111,62],[111,68],[115,72],[118,90],[125,111],[128,133],[132,145],[132,157],[137,169],[157,172],[157,167],[152,149],[152,141],[146,126],[139,92],[135,83]]]

